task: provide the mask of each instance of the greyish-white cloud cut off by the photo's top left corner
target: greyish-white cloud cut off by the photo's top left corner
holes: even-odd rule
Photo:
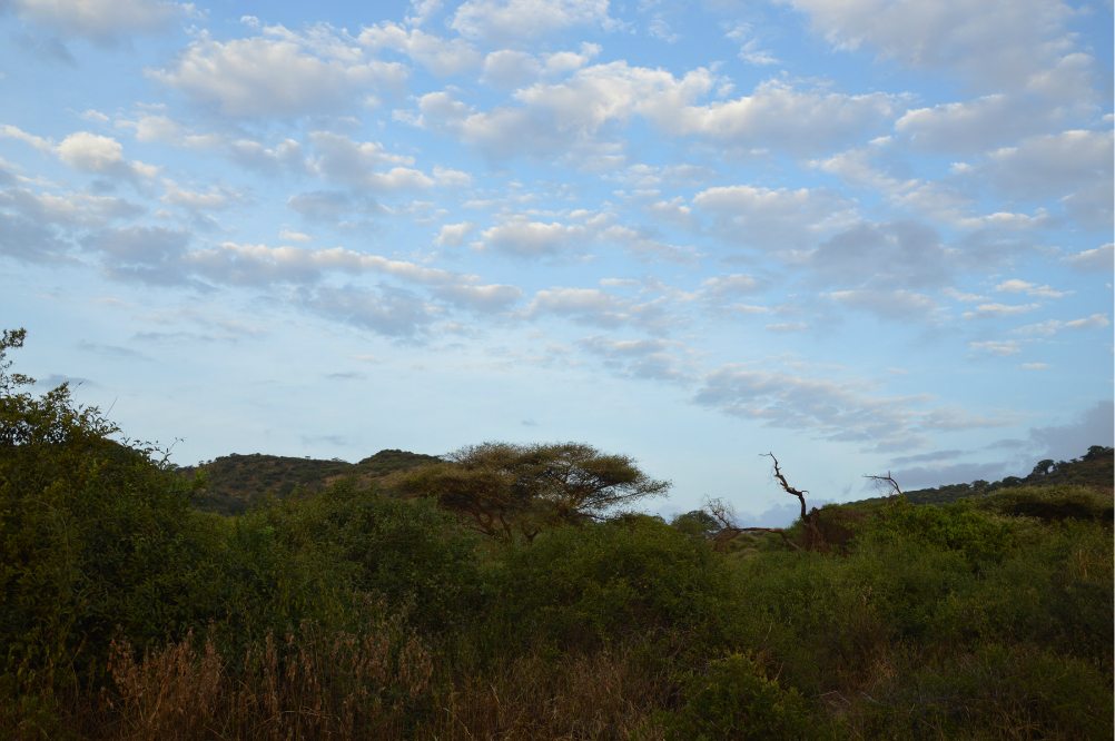
[[[119,36],[163,33],[175,21],[197,16],[193,3],[155,0],[10,0],[10,7],[23,20],[55,33],[98,43],[112,43]]]

